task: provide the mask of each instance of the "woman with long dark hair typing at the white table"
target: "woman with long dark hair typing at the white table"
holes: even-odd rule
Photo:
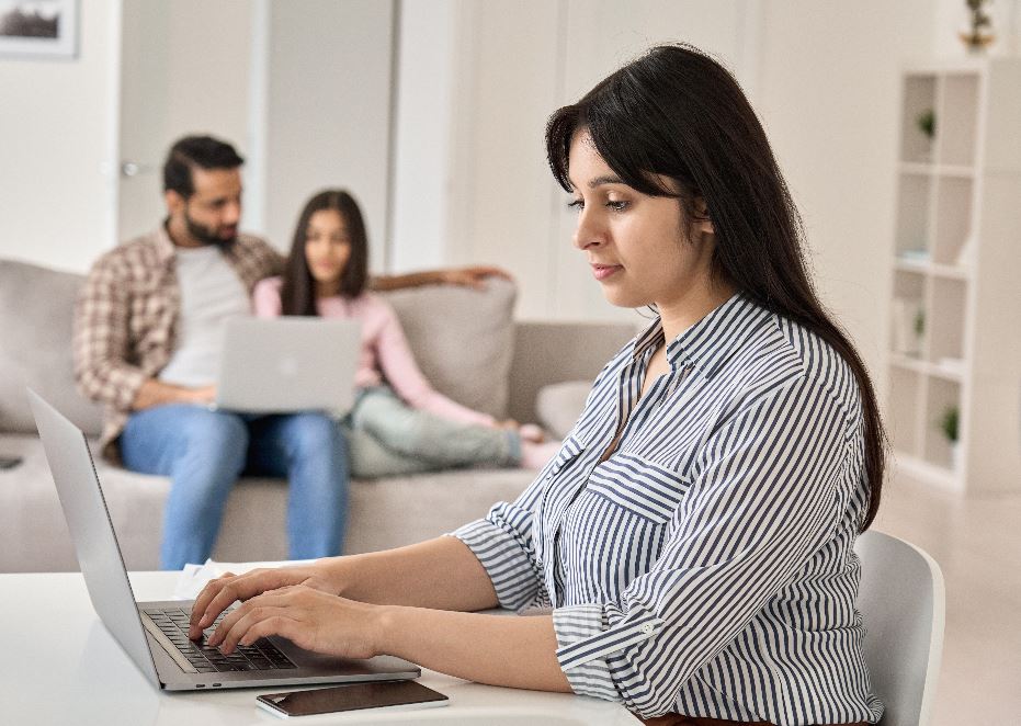
[[[883,427],[750,104],[660,46],[554,113],[546,147],[606,298],[657,313],[557,456],[454,536],[215,581],[195,628],[238,598],[228,650],[281,633],[657,724],[875,723],[853,545]],[[446,612],[497,604],[552,612]]]

